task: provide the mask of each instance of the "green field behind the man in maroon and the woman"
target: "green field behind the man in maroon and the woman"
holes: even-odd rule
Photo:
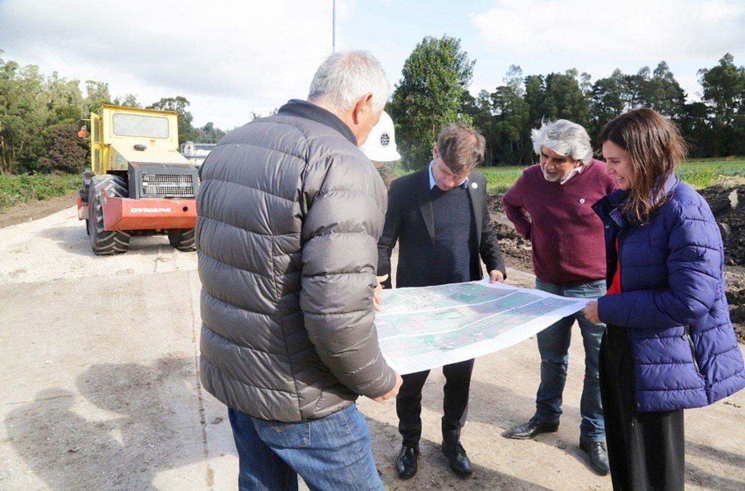
[[[523,169],[524,167],[520,165],[499,165],[497,167],[480,167],[478,171],[486,176],[487,192],[495,194],[507,191],[520,177]],[[676,174],[696,189],[716,184],[720,176],[745,179],[745,157],[692,159],[680,165]]]

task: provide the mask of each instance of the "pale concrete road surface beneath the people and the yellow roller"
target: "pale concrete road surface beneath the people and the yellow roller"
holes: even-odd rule
[[[194,253],[165,236],[97,257],[74,208],[0,229],[0,490],[232,490],[238,460],[226,410],[197,377]],[[510,282],[532,276],[510,270]],[[443,376],[422,405],[419,473],[395,478],[393,402],[358,402],[378,469],[398,490],[609,490],[580,451],[583,352],[574,333],[559,431],[505,440],[533,414],[534,339],[479,358],[462,443],[461,480],[440,453]],[[745,391],[744,391],[745,392]],[[688,489],[745,489],[745,393],[686,411]]]

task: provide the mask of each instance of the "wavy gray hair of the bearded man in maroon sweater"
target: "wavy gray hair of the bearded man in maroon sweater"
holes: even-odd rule
[[[533,150],[539,155],[541,148],[546,147],[559,155],[571,156],[572,160],[581,160],[583,164],[592,159],[592,145],[587,130],[566,119],[548,123],[541,121],[538,130],[530,130],[530,139],[533,140]]]

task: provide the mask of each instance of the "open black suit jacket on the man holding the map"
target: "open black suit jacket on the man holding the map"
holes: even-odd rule
[[[471,280],[481,279],[481,262],[486,270],[500,270],[504,277],[504,259],[497,234],[486,208],[486,177],[472,172],[468,177],[471,212],[475,218],[478,247],[471,244]],[[388,191],[388,211],[383,235],[378,241],[378,275],[390,274],[390,253],[399,241],[399,267],[396,287],[428,285],[434,254],[434,215],[429,187],[429,165],[422,170],[399,177]],[[390,276],[384,282],[390,288]]]

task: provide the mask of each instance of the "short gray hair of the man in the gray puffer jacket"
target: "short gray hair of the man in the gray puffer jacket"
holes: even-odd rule
[[[373,111],[383,110],[390,85],[378,59],[369,51],[337,51],[318,67],[308,100],[321,99],[335,110],[346,111],[367,92],[373,92]]]

